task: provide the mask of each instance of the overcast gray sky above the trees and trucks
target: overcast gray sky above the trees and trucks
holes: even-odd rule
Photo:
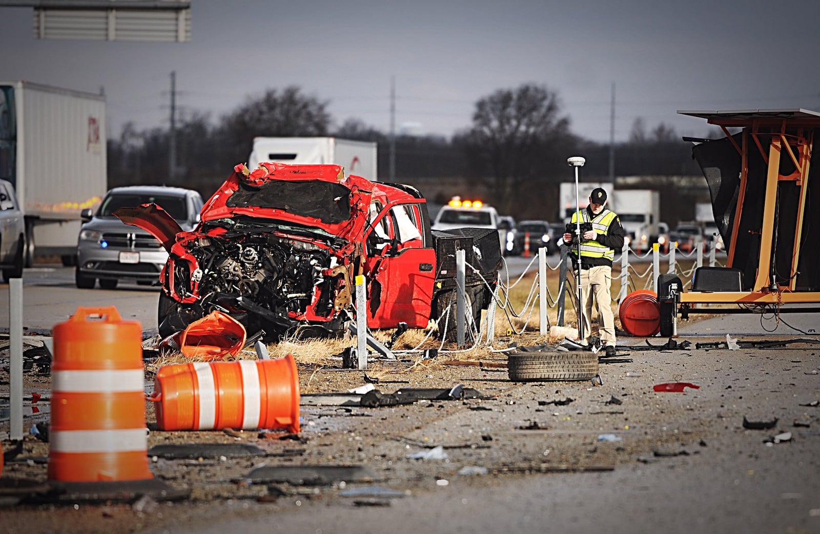
[[[184,112],[216,118],[295,84],[355,117],[453,135],[476,100],[526,82],[558,92],[572,130],[615,139],[635,117],[679,135],[706,122],[679,109],[820,110],[815,0],[193,0],[190,43],[37,40],[30,8],[0,7],[0,80],[107,94],[108,132],[168,125],[170,73]]]

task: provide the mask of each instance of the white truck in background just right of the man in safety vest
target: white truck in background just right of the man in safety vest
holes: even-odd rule
[[[608,208],[621,218],[632,250],[644,253],[658,240],[660,193],[654,189],[617,189],[609,194]]]

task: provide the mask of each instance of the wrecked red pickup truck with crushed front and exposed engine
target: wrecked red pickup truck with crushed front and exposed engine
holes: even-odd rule
[[[163,336],[213,310],[268,339],[296,328],[344,331],[357,275],[367,276],[367,326],[425,328],[455,308],[458,249],[474,267],[465,285],[468,320],[477,324],[501,265],[495,230],[433,232],[417,189],[344,178],[336,165],[238,165],[192,231],[155,204],[116,215],[169,253],[157,310]],[[450,332],[454,311],[447,322]]]

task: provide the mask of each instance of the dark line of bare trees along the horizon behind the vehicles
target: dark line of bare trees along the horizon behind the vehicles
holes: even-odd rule
[[[108,140],[108,186],[177,185],[197,189],[207,198],[236,163],[247,160],[256,136],[332,135],[374,141],[379,176],[387,180],[389,133],[356,118],[335,126],[328,105],[291,85],[248,98],[216,121],[194,112],[176,127],[173,173],[170,129],[137,130],[129,122],[119,138]],[[606,181],[609,176],[609,145],[572,133],[571,118],[563,112],[558,93],[542,84],[498,89],[480,98],[471,125],[451,139],[397,135],[394,146],[396,181],[416,185],[422,194],[430,180],[479,184],[490,192],[499,212],[515,212],[519,217],[555,212],[558,184],[572,180],[567,154],[586,157],[585,180]],[[691,145],[663,123],[647,132],[643,120],[635,120],[630,139],[616,144],[614,153],[615,176],[654,176],[663,180],[664,188],[675,187],[674,180],[671,184],[668,180],[671,177],[700,174]]]

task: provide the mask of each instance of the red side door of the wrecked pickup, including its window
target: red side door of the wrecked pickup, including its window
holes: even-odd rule
[[[399,322],[425,328],[430,320],[435,250],[426,243],[421,209],[418,204],[399,204],[381,210],[366,230],[371,328],[394,328]]]

